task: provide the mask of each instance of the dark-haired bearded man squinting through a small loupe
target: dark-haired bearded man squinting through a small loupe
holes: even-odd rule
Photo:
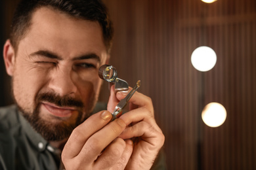
[[[152,167],[164,136],[149,97],[136,92],[110,122],[127,95],[112,87],[107,110],[92,114],[112,35],[100,1],[20,2],[3,49],[16,105],[0,110],[0,169]]]

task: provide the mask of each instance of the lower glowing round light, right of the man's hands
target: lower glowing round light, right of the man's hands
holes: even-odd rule
[[[221,126],[226,120],[226,109],[219,103],[209,103],[202,111],[202,119],[207,126]]]

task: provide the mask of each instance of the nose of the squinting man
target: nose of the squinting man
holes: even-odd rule
[[[77,92],[77,86],[74,83],[74,73],[72,69],[55,69],[51,73],[49,88],[60,96],[72,95]]]

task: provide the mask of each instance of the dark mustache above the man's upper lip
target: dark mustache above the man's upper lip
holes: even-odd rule
[[[58,107],[78,107],[83,108],[83,102],[78,99],[74,99],[70,96],[60,96],[56,93],[40,93],[37,95],[36,103],[40,101],[47,101],[49,103],[53,103]]]

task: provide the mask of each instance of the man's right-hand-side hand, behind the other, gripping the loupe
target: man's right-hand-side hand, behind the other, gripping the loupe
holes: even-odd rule
[[[126,95],[127,93],[123,92],[115,94],[112,87],[110,101],[113,103],[108,103],[108,110],[113,111],[118,101]],[[154,119],[154,108],[150,97],[136,92],[129,102],[130,111],[119,118],[127,126],[119,137],[133,139],[134,142],[133,154],[125,169],[150,169],[163,146],[165,137]]]

